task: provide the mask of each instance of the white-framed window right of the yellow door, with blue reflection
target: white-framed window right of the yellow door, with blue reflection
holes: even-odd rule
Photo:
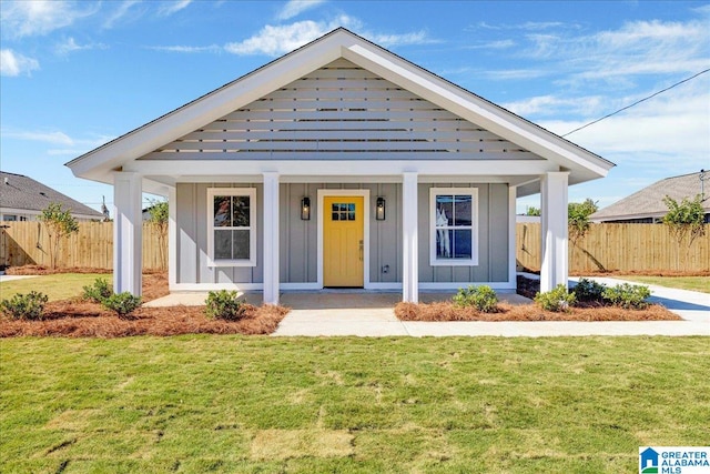
[[[432,188],[430,264],[478,264],[478,189]]]

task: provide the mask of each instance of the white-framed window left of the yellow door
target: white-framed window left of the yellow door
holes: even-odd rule
[[[207,190],[207,253],[214,266],[256,265],[256,190]]]

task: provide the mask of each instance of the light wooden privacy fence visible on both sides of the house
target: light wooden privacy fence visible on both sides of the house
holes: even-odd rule
[[[168,264],[168,249],[156,226],[143,224],[143,269],[161,270]],[[0,265],[50,265],[49,236],[38,222],[6,222],[0,231]],[[517,224],[518,264],[540,268],[540,224]],[[63,240],[59,266],[111,269],[113,223],[81,222],[79,232]],[[587,235],[569,244],[569,271],[707,271],[710,270],[710,225],[706,235],[682,245],[660,224],[594,224]]]

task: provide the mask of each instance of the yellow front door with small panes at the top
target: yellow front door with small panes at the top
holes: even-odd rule
[[[365,199],[323,198],[323,285],[364,285]]]

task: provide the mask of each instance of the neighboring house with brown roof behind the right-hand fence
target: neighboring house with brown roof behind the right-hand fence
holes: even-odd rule
[[[702,194],[702,179],[704,173],[681,174],[680,177],[666,178],[628,195],[613,204],[600,209],[589,216],[592,222],[608,223],[641,223],[651,224],[661,222],[668,213],[668,206],[663,202],[667,195],[680,202],[683,199],[694,199]],[[710,195],[710,189],[706,195]],[[702,202],[706,211],[706,222],[710,222],[710,200]]]

